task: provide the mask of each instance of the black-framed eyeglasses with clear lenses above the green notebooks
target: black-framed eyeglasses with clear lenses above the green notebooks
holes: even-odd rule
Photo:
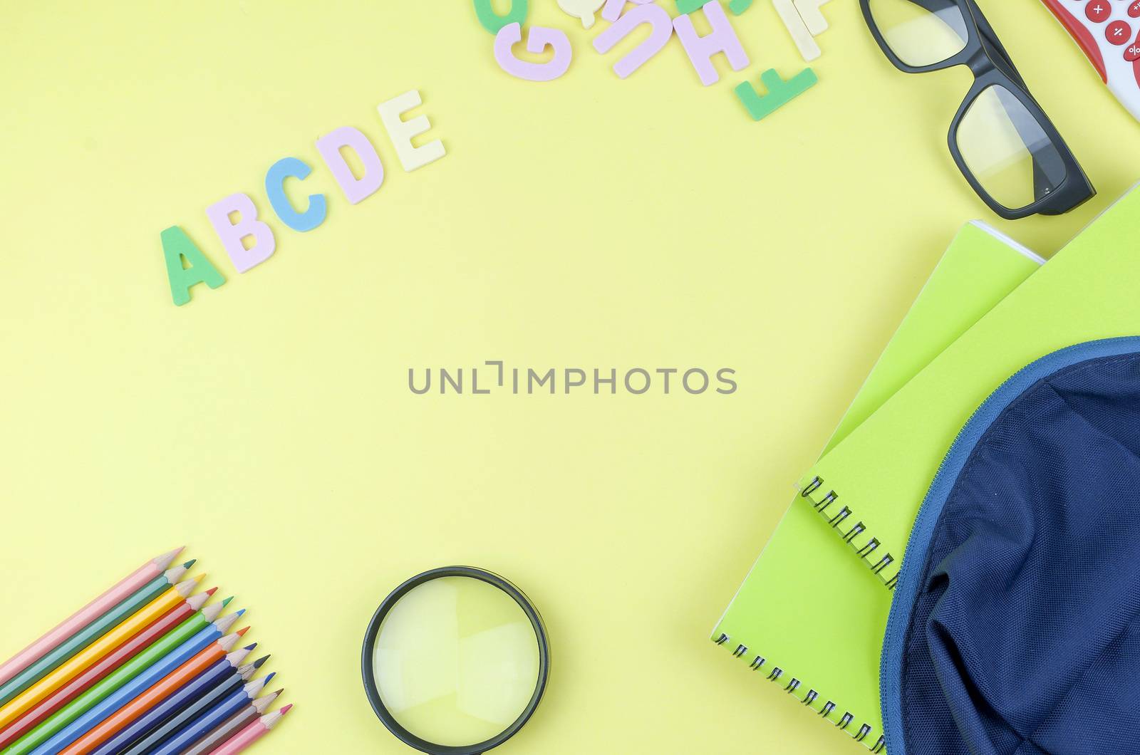
[[[1007,220],[1061,214],[1097,194],[974,0],[860,2],[899,71],[966,65],[974,73],[950,125],[950,152],[991,210]]]

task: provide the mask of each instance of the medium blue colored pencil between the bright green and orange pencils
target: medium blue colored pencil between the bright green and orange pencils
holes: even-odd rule
[[[40,739],[42,744],[36,745],[35,749],[32,749],[31,752],[35,755],[47,755],[47,753],[52,753],[54,755],[55,753],[58,753],[62,748],[82,737],[84,732],[97,725],[100,721],[123,707],[123,705],[125,705],[129,700],[133,699],[138,695],[141,695],[152,684],[156,683],[163,676],[193,658],[195,653],[209,648],[211,643],[226,642],[228,644],[227,650],[233,648],[239,635],[230,634],[221,638],[221,640],[218,638],[222,632],[225,632],[225,628],[222,627],[233,626],[235,616],[237,615],[230,614],[229,616],[223,616],[212,624],[207,624],[205,628],[199,630],[196,634],[190,636],[189,640],[181,643],[170,652],[161,656],[158,660],[152,660],[152,663],[147,664],[144,671],[138,673],[136,676],[132,676],[125,683],[120,683],[117,689],[114,689],[114,691],[109,693],[104,692],[101,699],[99,699],[99,701],[95,705],[89,705],[81,715],[71,716],[72,720],[70,723],[62,728],[56,728],[56,732],[47,741],[43,741],[36,736],[36,732],[39,731],[38,729],[33,730],[28,737],[34,736],[36,739]],[[131,663],[133,664],[135,661],[132,660]],[[103,682],[96,687],[100,687],[101,684]],[[95,688],[92,688],[92,690],[93,689]],[[85,697],[85,693],[79,699],[81,700],[83,697]],[[79,700],[76,700],[76,703]],[[64,708],[64,711],[60,711],[59,713],[64,713],[65,711],[67,711],[67,708]],[[54,721],[55,716],[41,725],[52,724]],[[18,747],[22,744],[23,740],[16,742],[16,746]],[[10,753],[5,753],[5,755],[16,755],[16,753],[17,750],[13,749]]]

